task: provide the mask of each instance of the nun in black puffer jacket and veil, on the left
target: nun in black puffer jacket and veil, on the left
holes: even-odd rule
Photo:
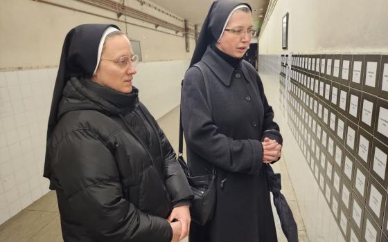
[[[170,242],[188,234],[191,189],[132,86],[136,62],[117,26],[78,26],[64,41],[44,167],[64,241]]]

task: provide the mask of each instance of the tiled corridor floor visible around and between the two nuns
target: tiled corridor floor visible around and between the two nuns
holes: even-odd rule
[[[179,131],[179,108],[174,109],[159,119],[159,124],[168,136],[174,149],[177,150]],[[273,165],[274,170],[281,173],[283,194],[290,204],[299,230],[299,241],[308,241],[308,236],[301,218],[294,190],[288,177],[287,164],[284,158]],[[274,214],[276,210],[273,208]],[[277,215],[275,217],[279,242],[287,241]],[[49,192],[32,205],[26,207],[16,216],[0,225],[0,241],[62,241],[60,217],[55,192]],[[184,242],[188,240],[185,239]]]

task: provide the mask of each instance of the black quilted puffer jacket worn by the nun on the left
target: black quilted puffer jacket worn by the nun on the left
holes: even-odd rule
[[[165,218],[192,194],[137,90],[73,77],[63,95],[48,152],[64,241],[170,242]]]

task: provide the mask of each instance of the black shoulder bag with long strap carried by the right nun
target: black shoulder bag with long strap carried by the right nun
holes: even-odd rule
[[[201,62],[195,64],[200,69],[202,76],[204,77],[206,99],[211,109],[211,99],[209,90],[209,80],[206,78],[206,73],[203,71]],[[182,87],[184,80],[182,80]],[[182,93],[182,92],[181,92]],[[181,94],[182,95],[182,94]],[[203,176],[191,176],[188,166],[183,158],[183,127],[182,127],[182,114],[179,118],[179,153],[178,158],[179,164],[184,170],[184,174],[188,180],[191,191],[193,191],[194,198],[191,201],[190,213],[191,219],[200,225],[205,225],[211,221],[214,214],[216,191],[215,191],[215,169],[213,167],[210,174]]]

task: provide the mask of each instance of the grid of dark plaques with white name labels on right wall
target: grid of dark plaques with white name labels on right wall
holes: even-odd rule
[[[388,55],[281,62],[288,124],[344,238],[388,241]]]

